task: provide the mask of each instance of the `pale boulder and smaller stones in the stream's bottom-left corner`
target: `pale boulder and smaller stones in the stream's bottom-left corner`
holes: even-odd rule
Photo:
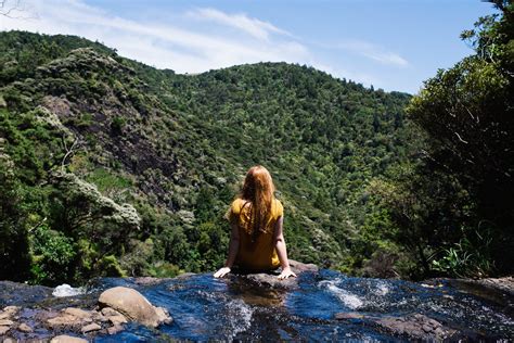
[[[29,309],[7,306],[0,310],[0,339],[5,342],[41,339],[34,332],[46,329],[55,334],[73,332],[91,338],[97,333],[114,334],[124,330],[124,325],[137,321],[147,327],[171,322],[172,318],[163,307],[153,306],[133,289],[116,287],[100,294],[98,305],[91,309],[66,307],[55,309]],[[83,339],[57,335],[51,342],[83,342]]]

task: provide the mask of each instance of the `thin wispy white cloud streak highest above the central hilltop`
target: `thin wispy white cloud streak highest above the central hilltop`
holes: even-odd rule
[[[257,18],[248,17],[246,14],[227,14],[215,9],[196,9],[188,13],[189,17],[210,21],[221,25],[239,28],[246,34],[261,40],[268,40],[270,34],[279,34],[292,36],[286,30],[283,30],[268,22],[262,22]]]

